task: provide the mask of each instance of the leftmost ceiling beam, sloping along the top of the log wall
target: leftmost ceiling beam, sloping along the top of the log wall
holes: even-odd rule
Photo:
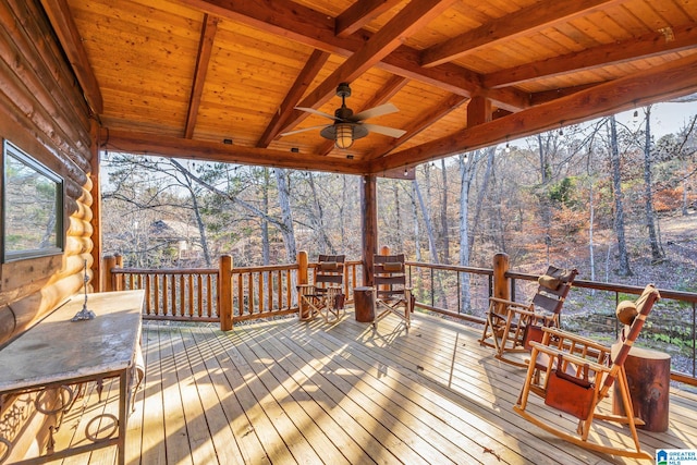
[[[68,2],[65,0],[41,0],[41,5],[44,5],[44,10],[75,72],[77,82],[83,88],[87,105],[96,114],[101,114],[105,111],[105,103],[101,90],[99,90],[99,83],[89,64],[87,52],[83,47],[82,38],[73,21]]]

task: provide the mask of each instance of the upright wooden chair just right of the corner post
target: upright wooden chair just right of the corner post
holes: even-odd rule
[[[404,254],[376,255],[372,261],[375,283],[375,319],[372,327],[390,314],[400,317],[406,329],[412,323],[415,298],[412,289],[406,285]]]

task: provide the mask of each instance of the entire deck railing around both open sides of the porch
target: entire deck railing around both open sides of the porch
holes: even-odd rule
[[[221,257],[218,269],[122,268],[120,257],[109,257],[107,291],[145,289],[144,319],[217,321],[231,329],[235,322],[295,314],[296,285],[314,281],[317,264],[304,253],[291,265],[232,267]],[[501,270],[407,261],[408,279],[417,307],[467,323],[481,325],[489,296],[494,294],[494,276]],[[353,289],[363,285],[363,264],[346,261],[344,293],[353,303]],[[525,302],[537,286],[537,276],[505,270],[511,298]],[[222,278],[221,278],[222,277]],[[502,284],[499,284],[502,285]],[[227,290],[225,290],[227,289]],[[634,299],[643,286],[574,281],[562,314],[562,326],[596,339],[612,342],[617,333],[614,308],[620,301]],[[697,294],[660,290],[656,306],[643,331],[646,343],[670,353],[672,378],[697,383]]]

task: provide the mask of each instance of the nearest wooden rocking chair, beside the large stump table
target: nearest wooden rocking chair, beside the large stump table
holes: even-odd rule
[[[636,317],[631,326],[624,327],[620,340],[612,347],[566,331],[545,328],[542,342],[531,342],[530,359],[535,363],[528,366],[521,396],[513,409],[546,431],[582,448],[634,458],[653,458],[640,449],[636,426],[644,425],[644,421],[634,416],[624,362],[659,298],[658,290],[652,284],[647,285],[635,302]],[[545,376],[539,376],[538,371],[543,371]],[[598,405],[608,396],[615,381],[617,387],[614,395],[622,397],[625,413],[601,414],[598,412]],[[528,408],[530,392],[545,400],[543,406],[535,407],[536,412],[549,407],[578,419],[576,433],[552,424],[550,418],[555,418],[557,415],[533,414]],[[607,441],[589,441],[588,435],[594,419],[628,425],[634,449],[609,445]]]

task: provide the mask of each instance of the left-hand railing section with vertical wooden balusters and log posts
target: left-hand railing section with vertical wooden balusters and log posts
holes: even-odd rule
[[[317,267],[305,258],[290,265],[235,268],[229,256],[221,257],[219,268],[123,268],[118,255],[105,264],[106,291],[145,290],[144,319],[215,321],[225,329],[234,322],[297,313],[296,285],[314,282]],[[362,285],[362,261],[345,262],[347,304],[353,303],[353,289]]]

